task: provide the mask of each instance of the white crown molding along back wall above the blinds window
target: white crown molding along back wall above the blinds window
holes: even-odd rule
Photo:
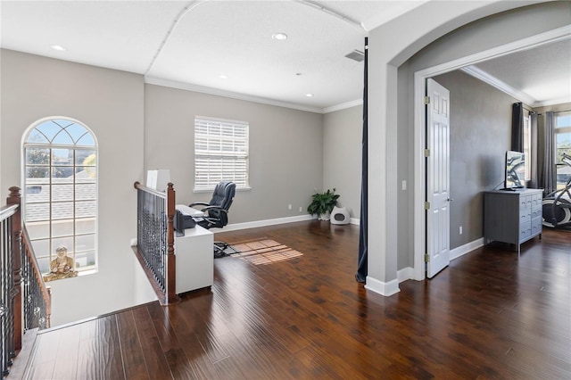
[[[156,78],[156,77],[148,77],[147,76],[147,77],[145,77],[145,83],[148,85],[178,88],[180,90],[193,91],[195,93],[224,96],[224,97],[229,97],[232,99],[244,100],[246,102],[276,105],[277,107],[291,108],[291,109],[299,110],[299,111],[323,113],[323,109],[319,108],[319,107],[312,107],[310,105],[302,105],[302,104],[295,104],[295,103],[287,103],[287,102],[282,102],[279,100],[264,98],[261,96],[245,95],[245,94],[235,93],[232,91],[222,90],[219,88],[191,85],[189,83],[178,82],[176,80]]]

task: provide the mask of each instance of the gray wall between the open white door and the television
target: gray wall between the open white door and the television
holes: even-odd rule
[[[511,106],[518,101],[459,70],[434,80],[451,96],[450,246],[454,249],[484,236],[482,192],[503,187]]]

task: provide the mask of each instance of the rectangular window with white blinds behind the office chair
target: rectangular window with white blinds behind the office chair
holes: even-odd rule
[[[194,118],[194,190],[220,181],[248,187],[248,123]]]

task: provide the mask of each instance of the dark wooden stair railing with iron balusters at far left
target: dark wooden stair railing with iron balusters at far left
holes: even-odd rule
[[[10,187],[6,206],[0,209],[0,330],[2,333],[0,370],[3,376],[8,376],[12,359],[22,349],[23,331],[29,328],[49,327],[51,313],[51,296],[37,267],[36,256],[28,249],[31,244],[29,244],[25,227],[22,242],[20,190],[17,186]],[[22,276],[22,263],[24,263],[24,276]],[[30,293],[30,289],[33,288],[37,288],[38,291]],[[37,300],[38,293],[42,294],[39,296],[39,301]],[[46,321],[43,326],[32,326],[24,321],[22,302],[24,310],[30,303],[34,304],[34,310],[38,308],[46,310],[44,314]]]

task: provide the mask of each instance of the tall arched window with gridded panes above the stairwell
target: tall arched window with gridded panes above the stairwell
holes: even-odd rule
[[[59,247],[79,274],[97,269],[97,143],[77,120],[34,123],[23,137],[24,221],[42,273]]]

